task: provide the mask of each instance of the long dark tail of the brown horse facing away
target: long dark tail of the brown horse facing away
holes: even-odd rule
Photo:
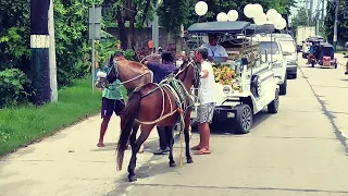
[[[117,145],[117,170],[122,170],[123,157],[124,151],[127,149],[127,143],[129,140],[129,136],[132,133],[133,124],[135,119],[138,117],[139,113],[139,106],[141,100],[141,93],[136,90],[132,94],[127,101],[127,106],[124,110],[124,118],[123,122],[121,122],[121,135]]]

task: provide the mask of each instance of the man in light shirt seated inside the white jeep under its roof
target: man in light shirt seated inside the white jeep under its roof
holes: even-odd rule
[[[217,44],[216,34],[209,34],[209,42],[203,44],[201,47],[208,49],[208,59],[210,61],[221,60],[222,62],[226,62],[228,60],[225,48]]]

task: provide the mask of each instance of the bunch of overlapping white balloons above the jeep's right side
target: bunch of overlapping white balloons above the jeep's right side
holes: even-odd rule
[[[274,9],[270,9],[266,13],[263,12],[261,4],[247,4],[244,8],[244,14],[253,19],[256,25],[274,24],[276,29],[284,29],[286,27],[286,21],[283,16]]]

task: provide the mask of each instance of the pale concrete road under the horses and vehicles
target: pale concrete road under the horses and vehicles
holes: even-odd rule
[[[212,135],[212,155],[194,156],[194,164],[169,168],[166,156],[147,151],[138,156],[140,179],[128,183],[126,171],[115,170],[117,128],[107,135],[110,146],[95,148],[96,117],[1,159],[0,195],[347,195],[348,77],[341,66],[300,62],[304,75],[288,82],[279,113],[258,114],[248,135]],[[157,147],[156,137],[153,132],[148,150]],[[191,144],[197,140],[194,135]],[[178,155],[176,145],[176,160]]]

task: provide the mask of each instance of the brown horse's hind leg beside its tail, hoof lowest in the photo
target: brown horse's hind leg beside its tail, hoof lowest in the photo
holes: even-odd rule
[[[137,164],[137,152],[139,151],[139,148],[144,144],[144,142],[149,137],[153,126],[154,125],[141,125],[141,134],[132,146],[132,158],[129,160],[129,166],[128,166],[129,182],[134,182],[137,180],[134,173],[134,169]]]

